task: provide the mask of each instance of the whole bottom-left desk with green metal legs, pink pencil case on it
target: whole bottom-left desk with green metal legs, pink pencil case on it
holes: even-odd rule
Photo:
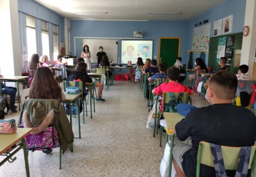
[[[21,148],[23,148],[25,168],[27,177],[30,177],[29,161],[28,161],[28,151],[25,142],[25,136],[27,136],[32,131],[32,128],[17,128],[17,131],[13,134],[0,134],[0,155],[6,156],[1,162],[0,166],[3,165],[7,160],[16,160],[16,157],[11,158],[15,153],[17,153]],[[16,148],[8,151],[12,146],[22,141]]]

